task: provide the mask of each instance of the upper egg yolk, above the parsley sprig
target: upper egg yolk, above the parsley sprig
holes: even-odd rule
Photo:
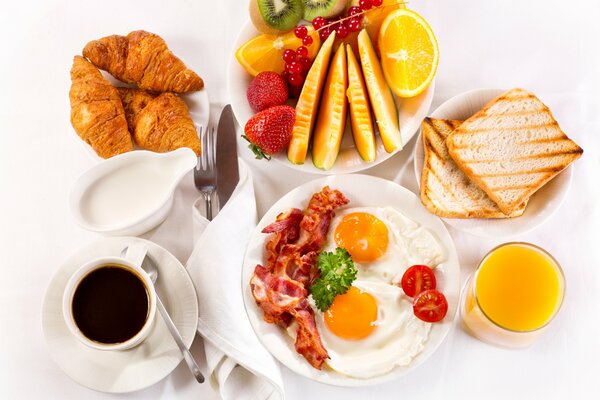
[[[359,263],[377,260],[385,254],[389,242],[383,221],[364,212],[345,215],[335,228],[334,239]]]

